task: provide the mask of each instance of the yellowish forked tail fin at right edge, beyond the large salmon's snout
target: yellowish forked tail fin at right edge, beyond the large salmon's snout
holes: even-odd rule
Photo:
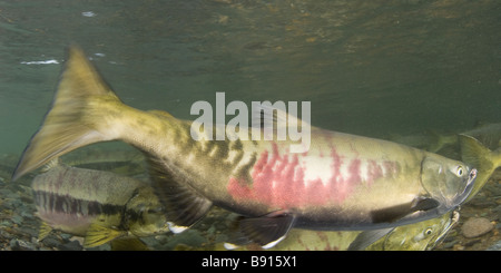
[[[482,143],[468,135],[459,135],[459,140],[462,160],[478,169],[475,184],[468,197],[471,199],[485,185],[492,173],[501,166],[501,150],[491,152]]]

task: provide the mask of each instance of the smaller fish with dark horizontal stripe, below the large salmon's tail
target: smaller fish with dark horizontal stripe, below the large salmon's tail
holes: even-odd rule
[[[86,237],[94,247],[116,237],[168,232],[153,188],[138,179],[109,172],[56,165],[32,182],[37,216],[50,230]]]

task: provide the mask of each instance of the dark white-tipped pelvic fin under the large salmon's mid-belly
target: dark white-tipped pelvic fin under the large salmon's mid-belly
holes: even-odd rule
[[[239,231],[249,241],[259,244],[263,248],[269,248],[285,238],[294,222],[293,214],[274,212],[257,218],[240,220]]]

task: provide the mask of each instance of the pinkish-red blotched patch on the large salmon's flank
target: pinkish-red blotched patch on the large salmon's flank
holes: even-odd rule
[[[393,175],[394,164],[384,163],[382,166],[375,160],[353,158],[346,160],[332,148],[331,156],[320,157],[331,160],[328,175],[324,181],[305,178],[307,164],[301,164],[297,154],[279,155],[276,144],[273,152],[265,150],[254,165],[250,176],[253,183],[229,178],[228,193],[236,201],[252,201],[271,207],[291,208],[326,204],[341,204],[365,182],[371,185],[375,179],[385,175]],[[364,168],[362,169],[362,164]],[[313,168],[313,166],[310,166]]]

